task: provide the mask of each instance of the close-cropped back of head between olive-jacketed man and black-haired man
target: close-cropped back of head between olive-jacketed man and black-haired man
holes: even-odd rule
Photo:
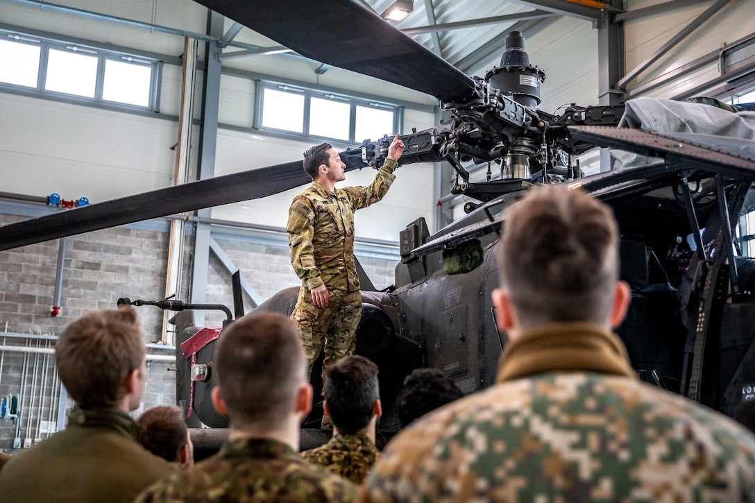
[[[220,335],[214,372],[233,427],[282,421],[307,382],[296,324],[279,313],[236,320]]]

